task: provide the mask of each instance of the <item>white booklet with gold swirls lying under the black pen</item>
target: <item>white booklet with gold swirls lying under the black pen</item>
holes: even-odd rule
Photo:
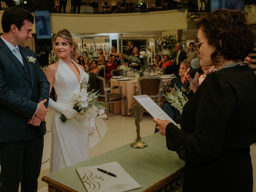
[[[141,187],[118,162],[76,168],[76,171],[88,192],[124,192]]]

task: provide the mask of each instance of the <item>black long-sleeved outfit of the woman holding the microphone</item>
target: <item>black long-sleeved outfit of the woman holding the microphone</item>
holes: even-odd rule
[[[223,68],[208,74],[185,104],[181,130],[167,125],[168,149],[186,162],[182,191],[252,191],[255,98],[248,66]]]

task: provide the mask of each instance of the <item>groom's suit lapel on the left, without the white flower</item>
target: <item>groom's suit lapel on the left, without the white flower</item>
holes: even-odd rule
[[[8,46],[4,43],[4,41],[1,38],[0,38],[0,50],[2,52],[4,52],[4,54],[6,54],[6,56],[8,56],[8,58],[10,58],[10,60],[13,62],[13,64],[16,66],[16,68],[18,68],[18,70],[24,76],[24,78],[26,80],[28,80],[28,78],[26,77],[26,74],[24,72],[22,64],[20,63],[18,58],[16,58],[16,56],[12,53],[12,51],[8,48]],[[12,64],[10,63],[10,65],[12,65]],[[28,80],[28,82],[30,82],[30,81]]]

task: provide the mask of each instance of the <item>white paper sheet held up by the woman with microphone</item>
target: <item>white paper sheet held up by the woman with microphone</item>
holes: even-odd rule
[[[172,118],[170,118],[149,96],[138,95],[133,97],[155,119],[168,120],[177,126],[176,122],[174,122],[174,120],[172,120]]]

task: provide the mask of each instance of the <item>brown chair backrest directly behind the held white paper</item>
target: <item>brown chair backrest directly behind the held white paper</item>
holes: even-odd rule
[[[148,95],[158,106],[161,106],[162,86],[163,79],[161,77],[140,77],[136,95]]]

